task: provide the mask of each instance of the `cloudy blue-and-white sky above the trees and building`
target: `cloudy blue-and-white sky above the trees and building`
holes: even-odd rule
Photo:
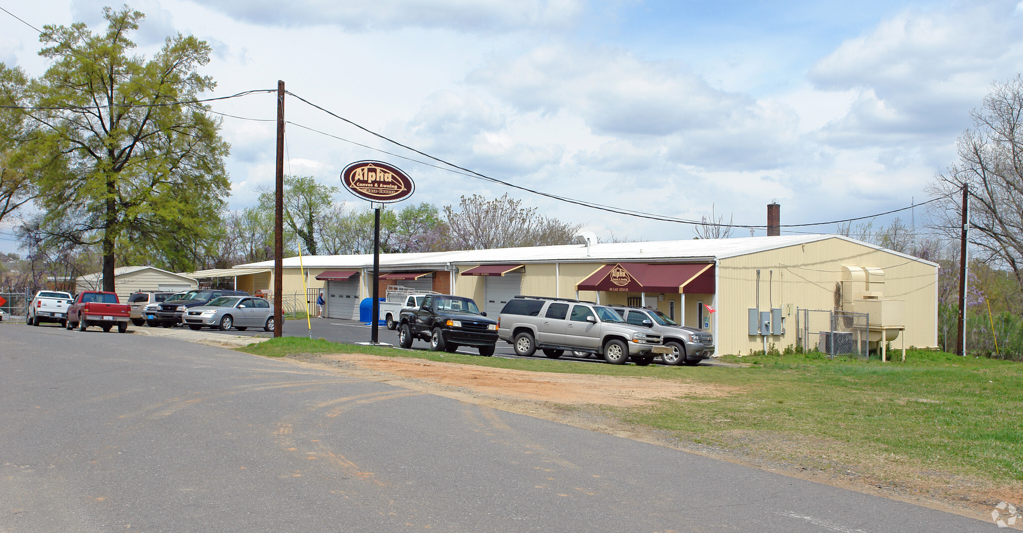
[[[4,3],[37,28],[85,21],[98,31],[109,2]],[[283,80],[337,115],[523,187],[684,219],[709,216],[713,206],[737,224],[764,224],[765,205],[775,199],[783,224],[925,201],[928,182],[954,162],[970,110],[992,82],[1023,72],[1018,0],[130,5],[147,14],[135,36],[141,53],[175,32],[210,42],[204,73],[218,82],[214,96]],[[0,30],[0,60],[32,75],[46,69],[34,30],[2,12]],[[274,105],[261,94],[214,109],[273,119]],[[301,126],[414,156],[298,99],[285,107]],[[223,135],[232,145],[230,206],[251,206],[257,187],[272,183],[273,123],[225,118]],[[326,184],[339,184],[348,163],[381,159],[412,176],[416,202],[509,192],[603,238],[694,236],[692,225],[564,204],[295,125],[286,150],[285,172]]]

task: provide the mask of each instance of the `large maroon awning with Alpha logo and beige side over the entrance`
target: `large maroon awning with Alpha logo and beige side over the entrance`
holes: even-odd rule
[[[604,265],[576,291],[611,293],[714,294],[714,264],[617,263]]]

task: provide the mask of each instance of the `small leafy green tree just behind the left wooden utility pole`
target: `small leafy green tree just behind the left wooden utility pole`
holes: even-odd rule
[[[317,183],[312,176],[284,176],[284,224],[302,239],[310,256],[315,256],[319,250],[317,235],[322,219],[333,207],[333,195],[340,190]],[[273,213],[275,203],[274,190],[261,189],[261,209]]]

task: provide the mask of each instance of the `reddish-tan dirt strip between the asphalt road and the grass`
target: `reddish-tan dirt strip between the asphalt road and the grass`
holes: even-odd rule
[[[297,354],[291,359],[332,371],[537,416],[577,428],[737,462],[785,476],[898,499],[985,522],[999,502],[1023,503],[1023,483],[929,470],[907,457],[825,439],[773,432],[722,432],[680,438],[623,423],[614,408],[665,399],[701,401],[742,392],[738,387],[655,377],[534,372],[365,354]],[[905,401],[919,401],[906,398]],[[993,524],[992,524],[993,526]],[[1023,520],[1010,528],[1023,530]]]

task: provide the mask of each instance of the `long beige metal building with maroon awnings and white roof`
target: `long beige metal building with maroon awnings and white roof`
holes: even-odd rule
[[[328,316],[358,317],[371,295],[371,255],[306,257],[304,265],[284,260],[285,295],[302,294],[304,276],[324,291]],[[430,288],[471,297],[490,316],[515,295],[657,307],[710,329],[718,354],[795,346],[807,332],[797,315],[807,309],[869,312],[874,346],[937,346],[938,265],[833,234],[384,254],[381,273],[382,297],[388,285]],[[272,273],[266,281],[272,286]]]

